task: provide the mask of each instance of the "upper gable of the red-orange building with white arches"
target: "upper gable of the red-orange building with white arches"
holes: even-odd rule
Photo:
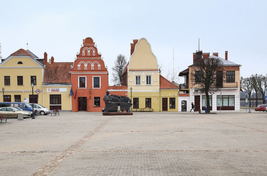
[[[76,55],[79,58],[101,58],[101,54],[98,53],[95,42],[91,37],[83,39],[83,45],[80,48],[79,53]]]

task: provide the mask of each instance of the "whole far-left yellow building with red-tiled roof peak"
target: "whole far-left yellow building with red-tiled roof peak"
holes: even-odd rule
[[[19,49],[0,63],[0,82],[3,85],[0,101],[27,102],[42,105],[43,59],[29,50]],[[31,82],[34,83],[32,96]],[[2,86],[1,86],[2,87]],[[39,92],[40,94],[36,93]]]

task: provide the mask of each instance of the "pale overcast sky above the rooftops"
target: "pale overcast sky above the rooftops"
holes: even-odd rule
[[[2,57],[20,48],[55,62],[73,62],[92,37],[108,67],[118,54],[130,57],[133,39],[145,37],[168,69],[183,71],[193,52],[219,52],[241,64],[241,76],[266,74],[267,1],[1,1]],[[183,79],[180,78],[180,83]],[[112,82],[109,81],[109,85]]]

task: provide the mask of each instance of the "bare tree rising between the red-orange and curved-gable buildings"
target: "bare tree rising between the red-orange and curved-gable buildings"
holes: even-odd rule
[[[122,54],[117,56],[114,66],[112,67],[112,82],[116,85],[122,85],[122,74],[127,62],[126,57]]]

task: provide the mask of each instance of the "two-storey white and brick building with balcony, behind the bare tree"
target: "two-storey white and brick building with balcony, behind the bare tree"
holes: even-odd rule
[[[220,91],[215,92],[213,95],[210,95],[210,110],[211,111],[240,111],[240,67],[241,65],[228,61],[228,52],[225,52],[225,59],[218,57],[218,53],[213,53],[210,56],[210,53],[202,53],[202,51],[197,51],[193,53],[193,63],[198,58],[217,58],[220,59],[223,63],[220,67],[223,72],[225,72],[226,78],[217,77],[217,82],[220,82],[221,89]],[[206,97],[203,93],[200,93],[194,86],[191,80],[192,69],[194,65],[188,66],[188,69],[183,70],[179,73],[179,76],[184,77],[184,84],[180,85],[180,94],[183,96],[179,100],[179,103],[186,104],[187,108],[185,111],[191,109],[191,102],[195,105],[195,110],[198,111],[201,109],[205,110]],[[224,80],[224,81],[223,81]],[[181,97],[181,96],[180,96]],[[182,102],[183,101],[183,102]],[[184,110],[184,109],[183,109]],[[181,109],[181,111],[183,111]]]

